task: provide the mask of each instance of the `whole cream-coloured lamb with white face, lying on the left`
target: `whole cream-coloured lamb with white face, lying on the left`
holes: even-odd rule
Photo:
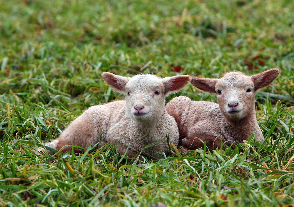
[[[101,140],[100,146],[115,144],[117,152],[133,158],[143,147],[166,138],[178,146],[179,132],[175,119],[165,110],[165,97],[186,86],[191,76],[159,78],[155,75],[136,75],[132,78],[104,72],[104,81],[114,90],[124,93],[126,100],[113,101],[90,107],[76,118],[59,136],[46,146],[60,150],[65,145],[78,145],[84,149]],[[62,152],[71,151],[68,146]],[[160,142],[145,153],[160,158],[168,153],[167,140]],[[74,148],[75,153],[82,150]]]

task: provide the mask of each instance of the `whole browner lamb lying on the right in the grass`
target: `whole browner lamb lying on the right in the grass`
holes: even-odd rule
[[[279,75],[278,69],[270,69],[253,76],[242,72],[230,72],[220,79],[192,78],[196,88],[217,94],[217,103],[191,101],[175,97],[166,105],[166,111],[176,119],[180,132],[180,144],[184,151],[203,147],[219,147],[220,139],[228,146],[248,140],[255,132],[256,142],[264,140],[254,105],[255,91],[263,88]],[[188,149],[187,149],[188,148]]]

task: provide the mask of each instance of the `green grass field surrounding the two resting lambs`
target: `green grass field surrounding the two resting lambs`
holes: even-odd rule
[[[0,206],[293,206],[293,10],[292,1],[1,1]],[[282,72],[256,94],[261,144],[136,164],[115,146],[32,150],[89,106],[123,98],[104,71],[217,78],[270,68]],[[216,101],[191,85],[176,95]]]

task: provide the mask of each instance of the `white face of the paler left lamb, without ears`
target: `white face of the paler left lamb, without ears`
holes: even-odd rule
[[[154,75],[132,77],[125,87],[126,113],[142,123],[154,122],[164,111],[165,94],[162,79]]]

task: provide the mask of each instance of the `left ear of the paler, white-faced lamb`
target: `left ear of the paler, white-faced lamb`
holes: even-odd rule
[[[114,90],[118,92],[126,92],[125,86],[128,81],[131,79],[129,77],[124,76],[117,76],[113,73],[104,72],[102,73],[102,78],[104,79],[105,83],[111,86]]]

